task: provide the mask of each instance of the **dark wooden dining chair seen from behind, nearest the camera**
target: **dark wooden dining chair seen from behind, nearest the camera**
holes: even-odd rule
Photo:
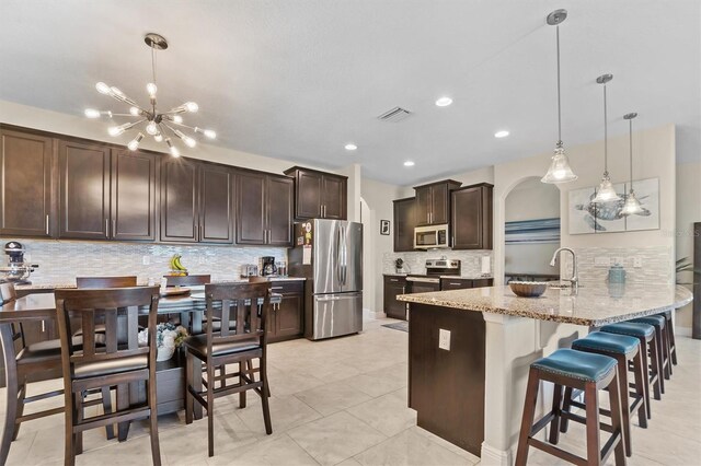
[[[151,457],[154,465],[160,465],[156,395],[156,317],[160,298],[159,287],[57,290],[55,298],[66,398],[65,464],[74,464],[76,454],[81,450],[83,431],[148,417]],[[138,345],[139,306],[149,310],[149,339],[146,347]],[[125,342],[117,339],[118,319],[126,321]],[[74,323],[79,323],[83,329],[80,346],[77,346],[71,337],[71,324]],[[104,345],[95,339],[97,325],[104,325]],[[117,403],[117,409],[113,412],[85,417],[85,391],[125,387],[129,383],[141,381],[146,382],[148,387],[146,404],[123,406],[124,404]],[[126,400],[128,397],[118,399]]]

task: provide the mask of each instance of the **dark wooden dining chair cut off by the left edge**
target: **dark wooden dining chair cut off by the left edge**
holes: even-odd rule
[[[2,304],[14,301],[16,299],[14,286],[10,282],[0,283],[0,298]],[[10,445],[12,441],[16,440],[23,422],[64,412],[64,406],[34,411],[28,415],[24,413],[24,408],[35,401],[61,396],[64,391],[54,389],[26,396],[27,384],[61,378],[61,345],[59,339],[27,345],[28,338],[25,335],[25,325],[22,323],[3,324],[0,337],[11,339],[11,345],[15,348],[19,345],[14,360],[10,359],[10,354],[4,354],[7,406],[0,447],[0,464],[4,465],[10,453]],[[74,338],[74,345],[80,346],[81,342],[82,339],[80,337]],[[94,399],[85,401],[85,404],[88,406],[103,404],[105,412],[111,410],[108,398]],[[107,430],[107,438],[114,438],[112,429]]]

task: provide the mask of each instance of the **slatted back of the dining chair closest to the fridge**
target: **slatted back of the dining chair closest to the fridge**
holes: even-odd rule
[[[219,329],[214,325],[207,326],[207,354],[211,354],[211,347],[219,343],[257,340],[258,345],[265,345],[265,325],[271,306],[269,281],[207,284],[205,295],[207,322],[214,322],[216,316],[221,319]],[[219,303],[221,307],[216,308]]]

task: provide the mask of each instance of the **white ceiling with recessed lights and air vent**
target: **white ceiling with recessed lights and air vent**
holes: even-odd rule
[[[552,150],[555,30],[544,20],[558,8],[570,13],[565,145],[602,138],[595,79],[610,72],[610,135],[636,110],[637,129],[675,123],[680,156],[701,159],[698,0],[2,0],[0,100],[76,115],[117,108],[94,90],[105,81],[145,102],[142,36],[158,32],[170,43],[159,97],[196,101],[191,121],[216,129],[218,144],[359,163],[365,176],[410,185]],[[441,95],[455,103],[436,107]],[[376,119],[394,106],[414,115]],[[498,129],[512,135],[495,139]]]

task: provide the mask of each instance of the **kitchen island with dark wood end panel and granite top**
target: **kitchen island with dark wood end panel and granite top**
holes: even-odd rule
[[[418,426],[482,464],[512,465],[532,361],[590,328],[678,308],[692,294],[629,284],[518,298],[509,287],[489,287],[398,300],[410,303],[409,406]]]

